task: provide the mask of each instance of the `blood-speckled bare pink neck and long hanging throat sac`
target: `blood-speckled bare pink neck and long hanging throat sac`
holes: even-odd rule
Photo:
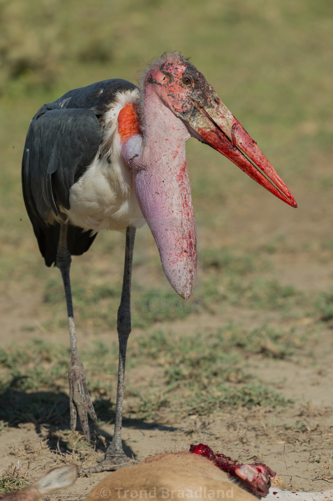
[[[133,164],[133,183],[142,213],[160,253],[164,273],[184,299],[196,278],[197,249],[191,189],[186,169],[183,122],[147,85],[145,148]]]

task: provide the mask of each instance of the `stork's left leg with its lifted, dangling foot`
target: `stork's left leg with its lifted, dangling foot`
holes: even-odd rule
[[[57,267],[61,271],[66,295],[68,327],[70,331],[71,342],[71,363],[68,369],[68,380],[70,384],[70,410],[71,410],[71,429],[75,431],[77,412],[82,424],[86,440],[90,440],[90,431],[88,424],[89,412],[91,418],[97,422],[95,409],[90,400],[86,372],[81,363],[78,347],[76,344],[75,324],[73,315],[73,303],[70,281],[71,253],[67,248],[67,229],[68,224],[60,224],[60,237],[57,249]]]

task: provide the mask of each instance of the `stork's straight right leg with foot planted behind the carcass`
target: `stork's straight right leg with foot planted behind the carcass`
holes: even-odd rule
[[[87,468],[87,473],[98,473],[100,471],[111,471],[120,465],[125,465],[131,462],[131,459],[126,456],[122,440],[121,428],[123,418],[123,396],[124,396],[124,376],[125,376],[125,359],[128,336],[131,332],[131,276],[132,276],[132,261],[133,247],[136,228],[128,226],[126,228],[126,246],[125,246],[125,265],[123,290],[121,293],[121,301],[118,309],[117,331],[119,339],[119,365],[118,365],[118,386],[117,386],[117,404],[116,404],[116,420],[113,438],[101,464]]]

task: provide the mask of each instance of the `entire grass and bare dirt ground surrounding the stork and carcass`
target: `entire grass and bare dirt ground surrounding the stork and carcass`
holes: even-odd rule
[[[132,297],[179,308],[132,308],[124,448],[142,460],[203,442],[265,462],[292,490],[331,488],[332,9],[325,0],[0,2],[0,493],[75,462],[77,482],[51,499],[84,499],[107,474],[83,470],[112,439],[116,399],[124,235],[101,232],[71,268],[78,348],[99,406],[88,444],[69,429],[60,273],[44,266],[22,197],[29,121],[69,89],[139,83],[138,69],[173,48],[257,141],[298,208],[187,142],[198,286],[183,303],[191,311],[179,311],[152,238],[137,231]]]

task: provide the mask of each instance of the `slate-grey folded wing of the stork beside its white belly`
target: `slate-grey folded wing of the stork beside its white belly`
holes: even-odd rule
[[[39,213],[47,219],[50,208],[56,215],[59,205],[70,208],[69,190],[96,156],[102,134],[95,114],[82,108],[50,110],[33,120],[32,129],[32,193]]]

